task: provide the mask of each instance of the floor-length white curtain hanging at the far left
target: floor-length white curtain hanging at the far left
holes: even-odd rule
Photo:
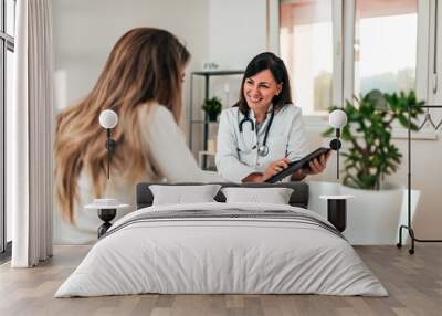
[[[14,102],[7,123],[13,267],[52,256],[53,55],[50,0],[19,0]],[[8,199],[10,199],[8,201]]]

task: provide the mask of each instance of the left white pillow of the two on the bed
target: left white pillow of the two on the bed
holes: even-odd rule
[[[154,206],[215,202],[213,198],[220,188],[220,185],[149,186],[154,194]]]

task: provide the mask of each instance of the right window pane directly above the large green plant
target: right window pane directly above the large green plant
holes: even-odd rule
[[[355,94],[415,89],[417,0],[356,0]]]

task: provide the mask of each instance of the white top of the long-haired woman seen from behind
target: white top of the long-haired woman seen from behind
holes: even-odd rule
[[[176,124],[169,109],[162,105],[146,105],[140,110],[139,126],[143,141],[147,145],[151,165],[164,176],[164,179],[151,179],[147,175],[141,181],[167,182],[213,182],[222,181],[215,172],[201,170],[194,160],[182,130]],[[103,145],[104,146],[104,145]],[[118,150],[118,148],[116,149]],[[112,172],[110,179],[103,197],[118,199],[122,203],[130,204],[129,209],[117,211],[116,219],[136,209],[136,183],[127,182],[118,173]],[[85,210],[84,206],[94,200],[92,181],[86,170],[78,179],[80,202],[75,208],[76,225],[61,219],[59,210],[54,212],[54,240],[55,243],[83,244],[97,239],[97,228],[103,223],[96,210]]]

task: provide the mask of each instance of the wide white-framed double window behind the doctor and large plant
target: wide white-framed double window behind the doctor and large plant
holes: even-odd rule
[[[320,115],[373,88],[414,89],[418,97],[428,98],[422,92],[431,82],[422,73],[428,60],[423,56],[432,51],[432,43],[423,40],[434,28],[429,3],[433,2],[281,0],[278,49],[295,104],[304,114]]]

